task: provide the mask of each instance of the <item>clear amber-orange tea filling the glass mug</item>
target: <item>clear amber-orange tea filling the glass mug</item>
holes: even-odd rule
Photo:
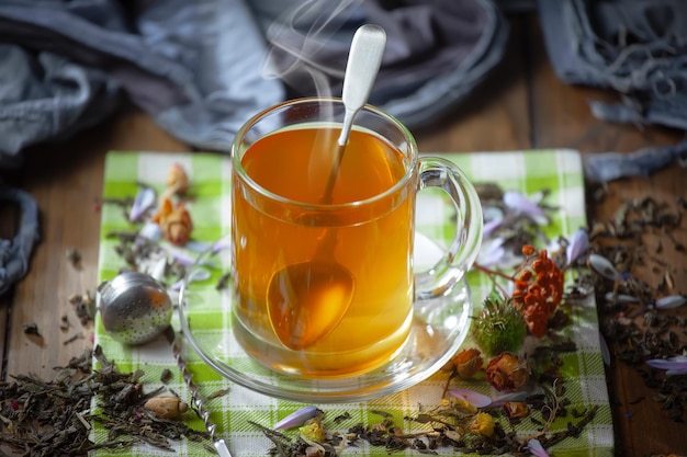
[[[323,204],[339,129],[268,134],[234,173],[235,334],[255,358],[306,377],[380,366],[412,321],[416,173],[396,146],[353,129]]]

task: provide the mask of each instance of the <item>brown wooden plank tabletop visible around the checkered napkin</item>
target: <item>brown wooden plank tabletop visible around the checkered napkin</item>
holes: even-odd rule
[[[562,84],[554,76],[533,16],[515,16],[507,55],[500,67],[470,96],[458,112],[431,128],[415,132],[421,151],[488,151],[531,148],[574,148],[583,153],[632,151],[673,144],[682,132],[665,128],[613,125],[594,118],[588,100],[613,100],[608,92]],[[53,367],[82,354],[90,343],[91,327],[82,327],[69,302],[72,294],[97,287],[100,214],[93,204],[101,195],[105,152],[116,150],[188,151],[190,148],[157,127],[145,114],[124,108],[108,122],[60,145],[29,151],[25,167],[7,173],[5,180],[30,192],[41,208],[42,240],[26,277],[0,297],[0,349],[3,378],[34,373],[46,379]],[[608,184],[600,203],[588,206],[589,220],[608,219],[620,202],[651,195],[674,203],[687,199],[687,170],[678,163],[649,178]],[[5,215],[2,238],[11,238]],[[683,227],[685,224],[683,224]],[[687,245],[687,230],[677,233]],[[82,259],[75,267],[67,250]],[[663,260],[676,267],[675,283],[687,293],[685,254],[664,250]],[[651,279],[651,278],[650,278]],[[653,281],[653,279],[652,279]],[[677,293],[676,292],[676,293]],[[683,309],[687,315],[687,307]],[[70,329],[60,330],[67,316]],[[22,327],[35,322],[41,336],[27,335]],[[64,344],[81,332],[83,339]],[[685,335],[682,335],[685,338]],[[631,367],[613,363],[608,373],[617,455],[687,455],[685,424],[664,419],[654,391]],[[631,412],[631,414],[630,414]]]

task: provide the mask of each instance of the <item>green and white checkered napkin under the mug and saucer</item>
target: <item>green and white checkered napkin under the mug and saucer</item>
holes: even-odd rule
[[[533,194],[543,188],[550,190],[548,203],[560,208],[554,214],[551,225],[544,228],[547,235],[551,237],[570,236],[577,228],[586,226],[582,162],[576,151],[530,150],[441,156],[454,161],[475,183],[496,182],[504,190],[520,191],[525,194]],[[105,198],[133,196],[138,188],[137,181],[162,190],[169,167],[174,162],[180,163],[187,170],[191,181],[191,202],[188,208],[194,225],[193,238],[209,242],[219,239],[229,229],[229,159],[227,157],[207,153],[113,151],[106,158],[103,196]],[[452,236],[447,224],[448,216],[442,213],[442,207],[435,203],[436,197],[431,194],[418,195],[417,229],[446,243]],[[121,208],[115,205],[103,206],[99,282],[112,279],[124,265],[123,260],[114,250],[117,241],[106,235],[113,230],[134,228],[123,216]],[[468,279],[474,302],[478,306],[492,285],[484,275],[477,273],[470,273]],[[573,309],[573,321],[574,324],[568,330],[570,336],[577,344],[577,352],[564,354],[562,367],[566,397],[572,400],[568,409],[575,408],[582,411],[598,405],[599,410],[579,437],[567,438],[552,450],[555,455],[565,456],[611,456],[613,445],[611,413],[594,304],[576,306]],[[172,324],[177,330],[180,328],[178,317],[173,318]],[[198,322],[194,321],[194,324]],[[170,346],[164,338],[140,347],[124,346],[109,338],[102,323],[97,319],[95,343],[103,347],[105,356],[114,361],[120,370],[143,369],[146,373],[144,382],[147,389],[165,387],[190,401],[189,391],[177,369]],[[469,344],[471,343],[465,343],[465,345]],[[302,403],[255,393],[224,379],[205,365],[192,350],[188,351],[187,358],[202,396],[207,398],[212,392],[228,389],[228,393],[206,401],[205,404],[212,411],[211,420],[217,424],[219,436],[229,443],[229,450],[234,457],[263,457],[271,447],[271,442],[250,425],[249,421],[271,426],[286,414],[303,407]],[[171,369],[176,377],[162,385],[160,375],[166,368]],[[341,430],[359,422],[365,424],[379,422],[380,416],[373,412],[375,410],[392,413],[395,423],[408,427],[408,431],[417,430],[418,425],[410,425],[404,422],[403,418],[417,414],[420,404],[426,407],[437,404],[444,382],[446,374],[437,374],[415,387],[387,397],[345,404],[318,404],[318,407],[327,412],[328,418],[335,418],[344,412],[350,413],[350,421],[342,423]],[[484,381],[471,381],[461,387],[489,393]],[[564,429],[566,421],[571,419],[558,420],[554,423],[554,430]],[[203,429],[202,422],[193,413],[188,413],[184,420],[195,429]],[[536,430],[528,429],[533,427],[529,421],[525,423],[519,430],[522,435],[536,433]],[[101,442],[106,433],[106,430],[95,424],[92,438],[97,443]],[[94,453],[94,456],[206,456],[210,454],[205,445],[206,443],[181,441],[172,443],[173,453],[140,446],[121,452],[99,450]],[[439,454],[455,455],[452,449],[439,449]],[[344,455],[382,457],[388,454],[382,447],[360,443],[358,447],[347,448]],[[413,455],[413,453],[408,450],[406,455]]]

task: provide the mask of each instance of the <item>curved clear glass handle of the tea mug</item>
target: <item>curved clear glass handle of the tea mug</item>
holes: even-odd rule
[[[442,188],[455,205],[455,236],[435,266],[415,274],[415,299],[446,294],[470,270],[482,245],[482,204],[465,173],[453,162],[438,157],[419,159],[418,192]]]

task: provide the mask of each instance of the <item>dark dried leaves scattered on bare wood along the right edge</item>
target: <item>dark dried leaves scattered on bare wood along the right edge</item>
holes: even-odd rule
[[[669,265],[660,256],[666,248],[685,254],[675,237],[685,230],[685,209],[680,197],[673,205],[647,196],[623,202],[610,220],[594,221],[589,251],[618,274],[579,281],[581,288],[594,287],[600,330],[615,359],[637,369],[658,392],[653,399],[664,415],[676,422],[685,421],[687,376],[668,376],[646,362],[687,353],[687,317],[678,309],[687,290],[673,279],[679,263]]]

